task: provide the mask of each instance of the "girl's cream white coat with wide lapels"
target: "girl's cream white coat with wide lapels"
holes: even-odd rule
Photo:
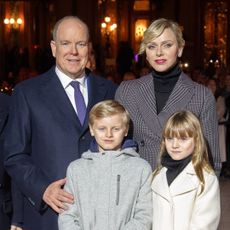
[[[220,220],[220,192],[215,174],[204,172],[205,188],[192,163],[175,178],[170,187],[164,167],[153,179],[152,230],[216,230]]]

